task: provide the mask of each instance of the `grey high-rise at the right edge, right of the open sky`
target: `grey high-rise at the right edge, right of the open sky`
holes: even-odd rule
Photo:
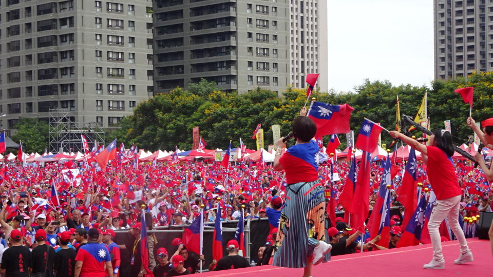
[[[434,0],[435,79],[493,70],[493,1]]]

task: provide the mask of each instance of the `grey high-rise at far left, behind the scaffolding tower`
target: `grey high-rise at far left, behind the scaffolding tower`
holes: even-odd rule
[[[1,0],[0,15],[0,128],[54,108],[116,127],[153,95],[150,1]]]

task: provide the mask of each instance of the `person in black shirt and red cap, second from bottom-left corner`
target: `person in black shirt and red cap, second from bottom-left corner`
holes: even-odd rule
[[[50,244],[46,243],[46,232],[43,229],[36,231],[34,239],[37,242],[37,246],[32,249],[31,263],[29,271],[33,276],[53,276],[53,263],[55,260],[55,250]],[[56,245],[56,243],[55,243]]]

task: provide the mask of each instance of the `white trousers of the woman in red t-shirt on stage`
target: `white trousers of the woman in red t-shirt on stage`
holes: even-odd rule
[[[444,200],[437,200],[433,211],[431,212],[430,221],[428,222],[428,231],[430,233],[431,244],[433,245],[433,259],[442,260],[442,240],[440,238],[439,227],[442,221],[447,217],[448,224],[453,234],[460,244],[461,253],[469,252],[464,231],[459,225],[459,205],[461,195],[450,197]]]

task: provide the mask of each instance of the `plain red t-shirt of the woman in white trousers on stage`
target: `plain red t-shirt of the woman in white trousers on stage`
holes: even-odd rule
[[[452,159],[438,147],[427,146],[426,150],[428,151],[428,180],[437,200],[461,195],[462,191],[457,181]]]

